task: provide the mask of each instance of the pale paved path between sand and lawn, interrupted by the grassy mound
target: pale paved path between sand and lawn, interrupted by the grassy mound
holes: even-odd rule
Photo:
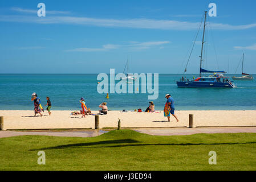
[[[201,128],[172,128],[172,129],[134,129],[140,133],[149,135],[192,135],[198,133],[256,133],[256,127],[201,127]],[[21,135],[45,135],[54,137],[96,137],[108,131],[63,131],[63,132],[35,132],[35,131],[0,131],[0,138],[15,137]]]

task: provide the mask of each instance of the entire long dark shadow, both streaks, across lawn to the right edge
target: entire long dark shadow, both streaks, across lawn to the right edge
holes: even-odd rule
[[[123,144],[121,144],[123,143]],[[126,143],[135,143],[135,144],[126,144]],[[114,146],[94,146],[97,144],[117,144]],[[72,148],[72,147],[90,147],[90,148],[115,148],[115,147],[139,147],[139,146],[201,146],[201,145],[234,145],[234,144],[256,144],[256,142],[244,142],[244,143],[156,143],[156,144],[140,144],[139,141],[133,139],[123,139],[123,140],[106,140],[101,142],[91,142],[91,143],[75,143],[67,144],[55,147],[46,147],[40,149],[34,149],[30,151],[37,150],[51,150],[51,149],[63,149],[63,148]]]

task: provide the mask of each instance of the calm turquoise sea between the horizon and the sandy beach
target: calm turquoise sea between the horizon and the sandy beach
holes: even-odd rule
[[[197,89],[177,88],[174,81],[180,77],[182,75],[159,75],[159,98],[153,101],[157,110],[164,108],[166,93],[172,94],[176,110],[256,110],[256,79],[235,81],[238,86],[235,89]],[[79,110],[80,97],[85,98],[92,110],[99,109],[103,101],[108,103],[109,110],[144,110],[148,106],[148,94],[142,93],[109,94],[107,100],[106,94],[97,93],[97,82],[96,74],[1,74],[0,110],[32,110],[33,92],[42,104],[46,104],[46,96],[50,97],[52,110]]]

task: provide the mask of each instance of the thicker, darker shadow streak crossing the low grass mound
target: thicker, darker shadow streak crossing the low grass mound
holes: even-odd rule
[[[100,142],[66,144],[66,145],[55,146],[55,147],[46,147],[46,148],[40,148],[40,149],[33,149],[33,150],[30,150],[30,151],[63,149],[63,148],[72,148],[72,147],[94,146],[94,145],[97,145],[97,144],[116,144],[116,143],[139,143],[139,141],[133,140],[133,139],[105,140],[105,141],[100,141]]]

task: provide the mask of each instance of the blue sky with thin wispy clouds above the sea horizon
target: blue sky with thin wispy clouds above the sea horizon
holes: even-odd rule
[[[38,17],[38,3],[46,17]],[[209,3],[205,68],[256,73],[256,2],[0,1],[0,73],[182,73]],[[210,28],[209,28],[210,27]],[[198,35],[188,73],[198,73]],[[237,73],[241,72],[238,68]]]

